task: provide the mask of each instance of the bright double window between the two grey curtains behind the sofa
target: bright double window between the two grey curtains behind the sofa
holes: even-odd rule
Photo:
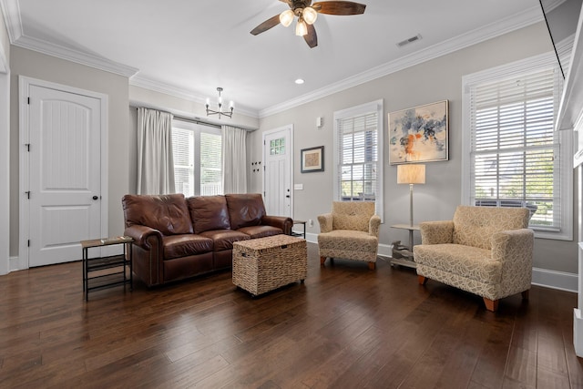
[[[220,128],[175,119],[172,151],[177,193],[185,196],[222,194]]]

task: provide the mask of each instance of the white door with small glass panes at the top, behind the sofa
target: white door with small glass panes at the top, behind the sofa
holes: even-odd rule
[[[292,217],[292,129],[263,136],[263,198],[268,215]]]

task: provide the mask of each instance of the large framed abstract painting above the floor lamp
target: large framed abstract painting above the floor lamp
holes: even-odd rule
[[[388,115],[389,165],[449,159],[449,101]]]

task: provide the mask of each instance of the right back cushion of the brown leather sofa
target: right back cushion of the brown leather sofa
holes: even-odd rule
[[[229,208],[231,230],[261,224],[265,206],[260,193],[227,194],[225,199]]]

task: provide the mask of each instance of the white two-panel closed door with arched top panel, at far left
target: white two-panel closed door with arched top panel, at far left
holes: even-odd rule
[[[101,100],[29,93],[29,266],[77,261],[101,231]]]

